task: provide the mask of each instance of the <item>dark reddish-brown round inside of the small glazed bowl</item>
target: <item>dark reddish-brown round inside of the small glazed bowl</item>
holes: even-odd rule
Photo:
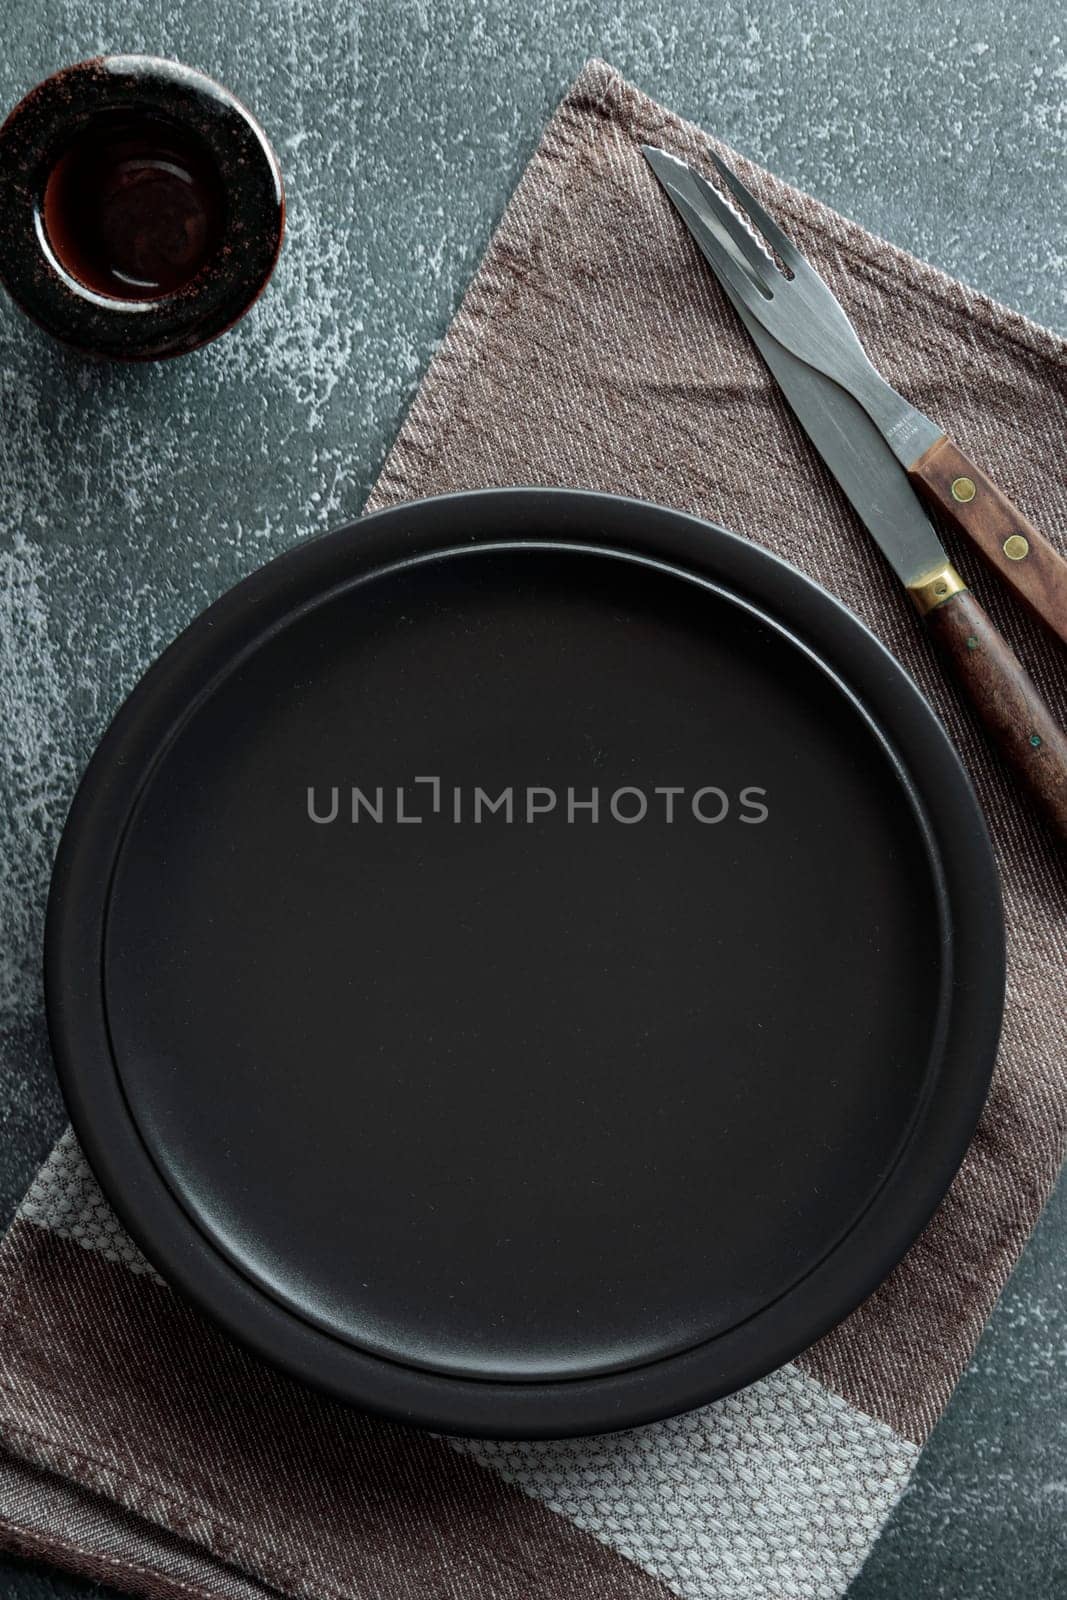
[[[43,222],[59,266],[110,299],[184,288],[216,253],[224,194],[210,154],[165,118],[104,117],[59,158]]]

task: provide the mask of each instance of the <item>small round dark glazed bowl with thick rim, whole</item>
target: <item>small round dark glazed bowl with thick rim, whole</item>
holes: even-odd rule
[[[157,360],[218,338],[262,291],[283,229],[266,133],[176,61],[80,61],[0,128],[0,283],[88,355]]]

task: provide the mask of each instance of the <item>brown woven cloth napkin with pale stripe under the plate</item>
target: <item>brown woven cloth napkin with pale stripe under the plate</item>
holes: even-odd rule
[[[945,686],[641,141],[696,162],[710,144],[590,64],[371,507],[504,483],[673,504],[787,557],[905,662],[971,768],[1005,882],[1003,1050],[965,1168],[888,1283],[795,1365],[630,1434],[486,1445],[362,1416],[230,1344],[138,1254],[67,1134],[0,1246],[10,1549],[168,1600],[832,1600],[907,1482],[1049,1192],[1067,1123],[1062,862]],[[1057,538],[1067,346],[737,165],[889,381]],[[1062,717],[1062,661],[995,582],[974,578]]]

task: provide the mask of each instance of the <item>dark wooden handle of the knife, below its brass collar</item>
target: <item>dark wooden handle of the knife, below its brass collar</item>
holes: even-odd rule
[[[933,586],[912,598],[998,754],[1067,840],[1067,736],[971,590],[952,568],[945,573],[949,587],[958,584],[947,600]]]

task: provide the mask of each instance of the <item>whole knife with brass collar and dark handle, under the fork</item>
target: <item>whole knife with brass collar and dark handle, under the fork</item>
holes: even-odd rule
[[[904,584],[989,738],[1067,840],[1067,738],[949,562],[891,445],[864,406],[777,341],[718,270],[723,226],[709,203],[707,179],[665,150],[641,149],[800,426]]]

